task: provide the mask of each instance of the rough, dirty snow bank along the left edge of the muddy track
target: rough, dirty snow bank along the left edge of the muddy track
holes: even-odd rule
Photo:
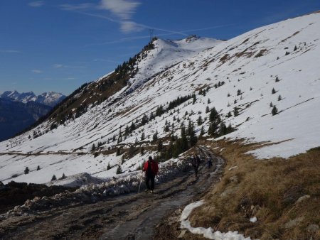
[[[166,182],[174,178],[177,173],[190,170],[190,165],[186,158],[177,158],[161,163],[159,173],[156,176],[156,182]],[[117,178],[116,178],[117,177]],[[91,203],[104,200],[107,197],[123,195],[129,192],[138,192],[140,182],[143,182],[144,174],[137,170],[132,173],[122,173],[112,178],[103,179],[101,183],[93,183],[100,181],[99,178],[92,178],[87,173],[69,176],[63,180],[54,181],[52,185],[69,185],[80,184],[75,192],[61,192],[52,197],[34,197],[33,200],[26,200],[21,206],[16,206],[9,210],[6,214],[0,215],[0,219],[11,216],[21,216],[23,214],[34,214],[40,210],[48,210],[54,207],[62,207],[65,205],[74,205],[80,203]],[[84,185],[85,182],[93,181]],[[51,182],[50,182],[51,183]],[[63,184],[65,183],[65,184]],[[144,190],[144,183],[141,185],[140,191]]]

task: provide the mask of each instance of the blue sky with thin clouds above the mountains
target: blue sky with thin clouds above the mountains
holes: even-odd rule
[[[320,10],[318,0],[1,0],[0,92],[70,94],[154,36],[230,39]]]

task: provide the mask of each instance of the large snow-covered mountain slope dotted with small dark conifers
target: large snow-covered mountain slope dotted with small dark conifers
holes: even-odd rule
[[[137,170],[146,158],[141,147],[156,153],[154,136],[170,148],[189,121],[196,135],[203,128],[208,136],[213,107],[236,129],[221,138],[272,143],[253,151],[257,158],[320,146],[319,29],[320,13],[312,13],[225,42],[153,40],[114,72],[82,85],[35,129],[0,143],[0,180]]]

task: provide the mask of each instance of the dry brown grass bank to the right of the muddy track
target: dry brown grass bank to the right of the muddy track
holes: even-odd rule
[[[261,144],[203,144],[227,163],[206,204],[193,211],[194,227],[240,231],[252,239],[320,239],[320,148],[289,159],[257,160],[246,153]]]

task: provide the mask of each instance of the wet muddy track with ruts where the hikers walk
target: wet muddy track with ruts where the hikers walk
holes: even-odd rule
[[[65,206],[37,215],[10,217],[0,222],[0,239],[156,239],[159,223],[176,209],[199,200],[220,178],[224,161],[206,148],[199,153],[213,158],[174,180],[156,185],[155,193],[140,192],[93,204]],[[143,183],[142,183],[143,184]]]

